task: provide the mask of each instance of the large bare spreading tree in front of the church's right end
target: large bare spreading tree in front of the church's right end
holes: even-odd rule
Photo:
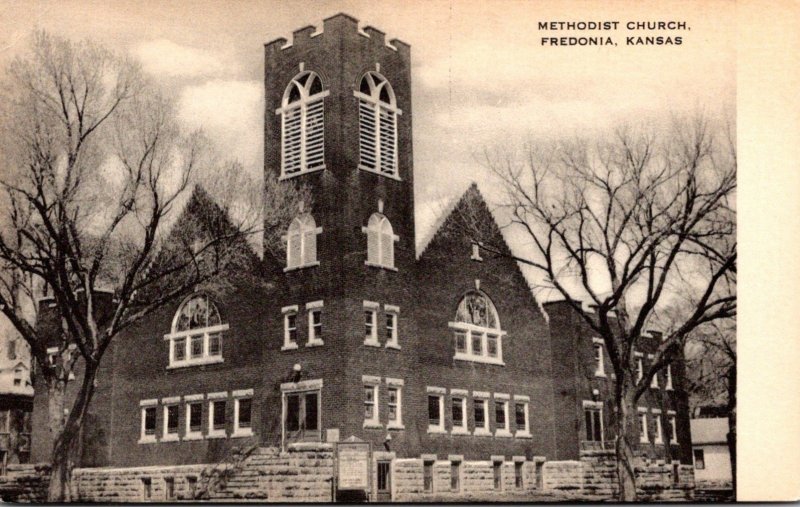
[[[480,161],[504,189],[501,227],[530,248],[509,252],[478,213],[463,213],[460,228],[489,254],[538,270],[602,337],[616,376],[620,498],[634,500],[637,400],[692,331],[736,314],[733,136],[707,119],[674,120],[594,142],[487,149]],[[691,311],[671,322],[637,380],[637,343],[678,294]]]

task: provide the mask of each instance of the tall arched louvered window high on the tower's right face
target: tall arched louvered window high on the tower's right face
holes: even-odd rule
[[[397,115],[401,111],[392,86],[377,72],[367,72],[354,93],[358,97],[359,167],[397,178]]]

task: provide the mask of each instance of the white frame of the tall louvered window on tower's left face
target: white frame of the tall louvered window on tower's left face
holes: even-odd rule
[[[291,87],[295,86],[295,81],[304,74],[312,74],[311,77],[308,78],[305,86],[298,86],[300,89],[300,100],[297,102],[289,103],[289,90]],[[315,104],[318,100],[322,101],[322,152],[323,157],[325,153],[325,97],[330,95],[330,90],[322,90],[319,93],[315,93],[314,95],[309,95],[310,86],[314,78],[319,79],[320,85],[324,87],[322,82],[322,78],[315,72],[310,71],[302,71],[297,74],[287,85],[286,90],[284,91],[283,100],[281,102],[281,107],[275,110],[275,114],[281,116],[281,176],[280,180],[286,180],[289,178],[294,178],[300,176],[302,174],[309,174],[316,171],[322,171],[325,169],[325,160],[323,158],[322,165],[313,167],[311,169],[308,168],[308,139],[307,139],[307,130],[308,130],[308,107],[309,105]],[[299,83],[297,83],[299,85]],[[284,142],[284,138],[286,135],[286,113],[291,112],[294,109],[300,108],[300,170],[295,171],[292,173],[286,173],[286,144]]]

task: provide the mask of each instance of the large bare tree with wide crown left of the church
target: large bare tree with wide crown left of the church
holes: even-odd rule
[[[46,386],[54,438],[48,499],[70,501],[79,435],[114,337],[198,284],[256,261],[246,243],[264,217],[241,191],[218,205],[195,186],[209,144],[182,131],[172,101],[136,63],[39,32],[5,81],[0,309]],[[237,167],[224,166],[233,173],[216,181]],[[300,195],[283,188],[284,205]],[[20,291],[37,284],[55,305],[55,334],[20,310]],[[68,403],[76,368],[82,378]]]

